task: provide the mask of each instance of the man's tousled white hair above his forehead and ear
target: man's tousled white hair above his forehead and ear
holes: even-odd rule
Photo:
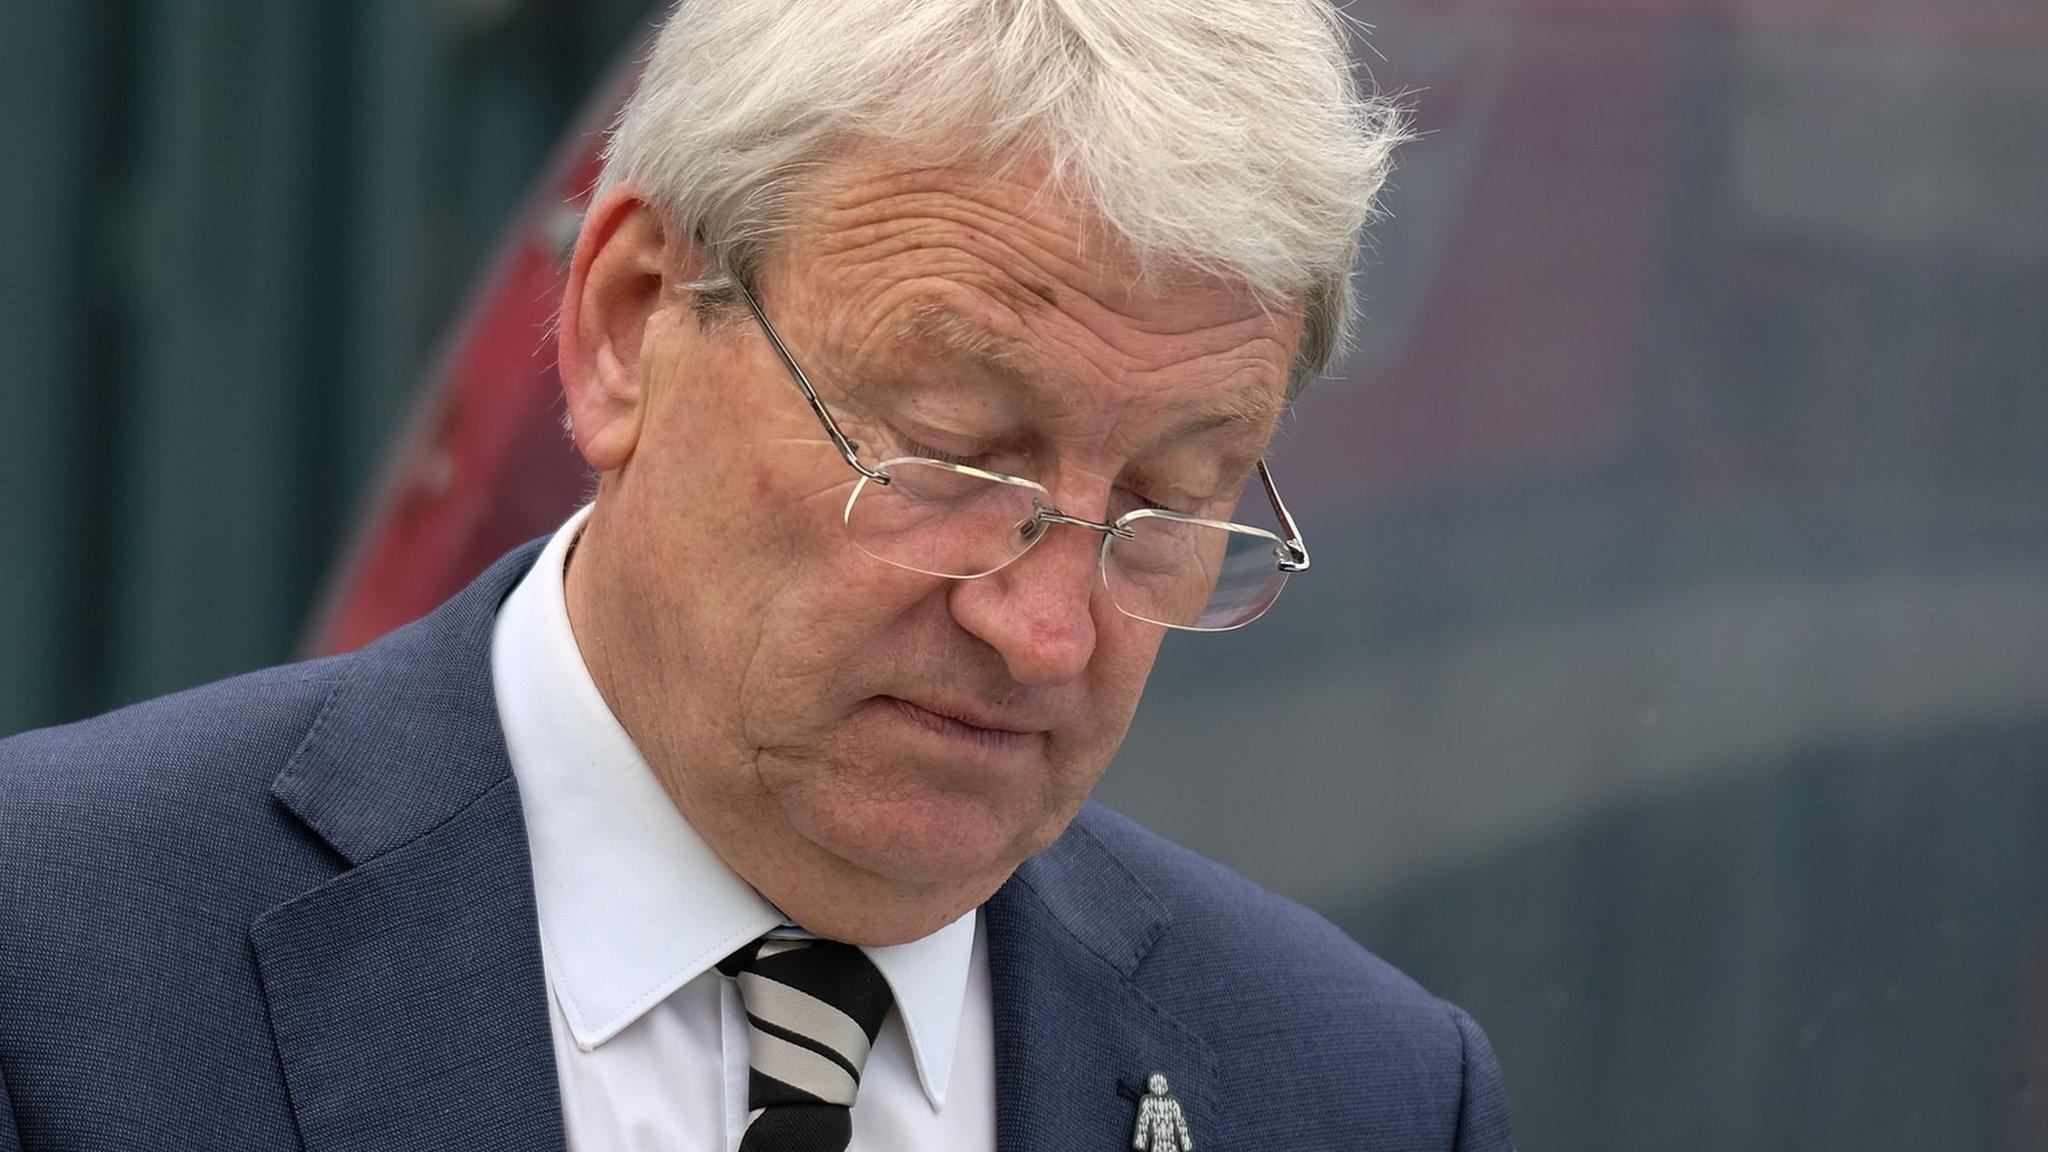
[[[1032,156],[1141,275],[1300,307],[1294,394],[1343,348],[1360,234],[1407,139],[1354,80],[1346,20],[1327,0],[684,0],[600,193],[629,182],[752,277],[848,143]]]

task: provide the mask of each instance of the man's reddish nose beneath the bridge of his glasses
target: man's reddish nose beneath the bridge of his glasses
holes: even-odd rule
[[[1102,535],[1071,525],[1040,525],[1044,539],[1010,566],[979,580],[958,580],[952,619],[993,648],[1020,685],[1051,687],[1079,678],[1096,654],[1096,592],[1102,588]]]

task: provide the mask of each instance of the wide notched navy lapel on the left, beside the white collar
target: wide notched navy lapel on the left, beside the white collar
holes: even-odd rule
[[[532,865],[489,676],[539,543],[348,656],[272,793],[352,867],[250,943],[311,1152],[563,1148]]]

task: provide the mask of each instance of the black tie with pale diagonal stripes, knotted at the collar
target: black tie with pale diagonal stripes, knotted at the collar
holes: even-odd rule
[[[719,961],[748,1009],[748,1134],[739,1152],[846,1152],[860,1068],[889,984],[840,941],[762,937]]]

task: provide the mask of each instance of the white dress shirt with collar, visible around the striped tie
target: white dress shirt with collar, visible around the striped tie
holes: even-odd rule
[[[563,596],[575,512],[498,611],[492,681],[532,849],[571,1152],[731,1152],[748,1021],[713,968],[782,924],[676,812],[584,666]],[[852,1152],[993,1152],[995,1031],[979,912],[864,949],[895,1011]]]

